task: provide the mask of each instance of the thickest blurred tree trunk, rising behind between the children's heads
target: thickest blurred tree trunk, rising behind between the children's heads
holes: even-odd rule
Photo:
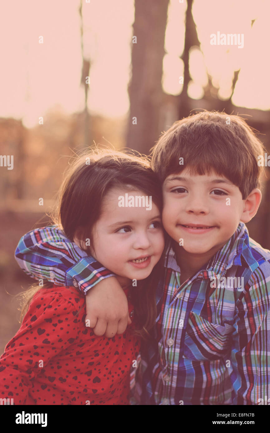
[[[163,128],[161,79],[168,3],[169,0],[135,0],[127,147],[146,154]]]

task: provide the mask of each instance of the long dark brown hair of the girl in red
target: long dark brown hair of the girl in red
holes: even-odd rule
[[[93,248],[93,227],[101,216],[102,201],[113,187],[124,187],[126,191],[143,191],[146,196],[152,196],[152,202],[162,213],[161,185],[146,157],[111,149],[85,152],[75,158],[65,171],[52,220],[64,231],[68,239],[74,242],[76,238],[80,248],[89,255],[91,247]],[[155,293],[162,268],[160,259],[151,275],[145,280],[137,281],[137,287],[132,288],[131,300],[139,326],[134,333],[143,338],[147,338],[148,331],[156,320]],[[33,287],[31,297],[24,301],[23,312],[26,311],[32,297]]]

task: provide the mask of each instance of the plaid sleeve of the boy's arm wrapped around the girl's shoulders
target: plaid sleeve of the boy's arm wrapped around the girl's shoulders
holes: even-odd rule
[[[15,259],[27,275],[78,287],[84,294],[103,278],[115,276],[56,225],[26,233],[17,245]]]

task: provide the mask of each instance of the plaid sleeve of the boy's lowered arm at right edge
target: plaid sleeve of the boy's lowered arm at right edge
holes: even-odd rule
[[[236,303],[231,352],[233,403],[269,404],[270,263],[252,274]],[[259,400],[262,399],[262,400]],[[263,403],[262,403],[263,401]]]

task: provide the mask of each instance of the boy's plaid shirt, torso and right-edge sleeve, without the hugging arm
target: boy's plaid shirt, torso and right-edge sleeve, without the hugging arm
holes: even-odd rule
[[[164,267],[153,341],[141,352],[141,404],[249,405],[269,398],[270,251],[240,223],[184,284],[170,242]],[[244,290],[211,288],[218,275],[243,278]]]

